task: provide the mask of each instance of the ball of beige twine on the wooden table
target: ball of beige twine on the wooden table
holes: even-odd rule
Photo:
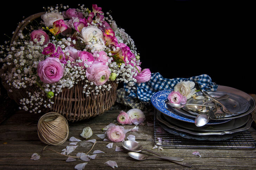
[[[46,113],[38,121],[37,133],[43,143],[61,145],[69,136],[68,121],[56,112]]]

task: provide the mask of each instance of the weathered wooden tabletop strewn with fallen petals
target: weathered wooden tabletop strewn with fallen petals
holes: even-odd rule
[[[255,97],[255,95],[253,95]],[[43,151],[46,146],[42,143],[37,135],[37,123],[42,114],[31,114],[18,110],[15,103],[8,98],[5,99],[4,106],[2,106],[2,113],[9,113],[9,116],[5,121],[0,124],[0,169],[74,169],[75,165],[84,163],[84,161],[78,159],[75,162],[66,162],[65,156],[56,154],[52,151]],[[9,103],[9,104],[8,104]],[[120,110],[128,110],[128,108],[115,108],[114,110],[105,111],[102,115],[90,118],[89,120],[69,123],[69,138],[74,136],[81,140],[80,136],[84,127],[91,127],[94,135],[91,138],[97,140],[94,150],[102,150],[105,153],[98,154],[96,159],[91,159],[85,166],[85,169],[100,170],[100,169],[112,169],[111,167],[104,165],[108,160],[117,162],[118,168],[115,169],[241,169],[252,170],[256,169],[256,150],[233,150],[233,149],[164,149],[160,150],[160,154],[165,156],[179,156],[184,157],[183,162],[193,164],[191,168],[186,168],[168,161],[161,161],[159,159],[147,159],[145,161],[135,161],[128,157],[124,151],[116,152],[116,146],[121,147],[121,143],[114,143],[113,148],[107,148],[106,145],[110,142],[103,141],[103,139],[97,137],[95,134],[103,134],[101,129],[109,123],[115,123],[117,115]],[[254,113],[255,114],[255,110]],[[145,113],[146,122],[153,123],[152,113]],[[133,128],[134,125],[126,125],[125,129]],[[256,131],[254,128],[250,128],[249,131],[256,140]],[[148,138],[153,138],[153,127],[139,125],[139,131],[128,132],[129,135],[135,135],[136,141],[146,148],[151,150],[154,146],[154,142],[147,141]],[[68,139],[69,139],[68,138]],[[127,139],[125,139],[127,140]],[[5,144],[4,144],[5,143]],[[7,143],[7,144],[6,144]],[[62,149],[69,145],[67,140],[64,144],[59,146],[49,146],[49,149],[61,152]],[[89,148],[78,146],[75,151],[70,155],[76,156],[77,152],[87,152]],[[92,151],[89,154],[92,154]],[[154,151],[157,151],[156,149]],[[192,152],[199,151],[202,155],[192,155]],[[37,161],[31,160],[30,157],[33,153],[38,153],[41,158]],[[146,154],[146,152],[144,152]]]

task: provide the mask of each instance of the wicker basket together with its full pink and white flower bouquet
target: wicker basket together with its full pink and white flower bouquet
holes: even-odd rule
[[[2,83],[20,109],[83,120],[114,104],[117,83],[132,89],[151,79],[134,41],[97,5],[92,11],[84,5],[45,9],[21,22],[1,46]]]

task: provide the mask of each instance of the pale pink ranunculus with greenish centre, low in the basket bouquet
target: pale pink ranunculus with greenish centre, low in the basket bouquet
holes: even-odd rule
[[[102,62],[94,61],[92,65],[87,68],[86,76],[91,82],[94,82],[96,86],[103,85],[108,81],[110,76],[109,67]]]

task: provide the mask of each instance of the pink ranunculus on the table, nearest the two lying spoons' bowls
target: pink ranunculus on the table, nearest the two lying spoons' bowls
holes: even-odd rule
[[[123,128],[118,125],[110,125],[106,131],[106,135],[112,142],[122,142],[125,138]]]

